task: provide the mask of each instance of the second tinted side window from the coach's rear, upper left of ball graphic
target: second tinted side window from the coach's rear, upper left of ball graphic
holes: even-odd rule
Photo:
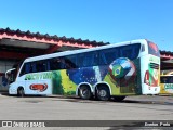
[[[112,61],[119,57],[118,49],[106,49],[99,51],[99,64],[107,65],[110,64]]]

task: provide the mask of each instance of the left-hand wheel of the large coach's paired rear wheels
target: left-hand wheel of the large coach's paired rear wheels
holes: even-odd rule
[[[79,96],[83,100],[90,100],[92,98],[90,87],[89,86],[81,86],[79,88]]]

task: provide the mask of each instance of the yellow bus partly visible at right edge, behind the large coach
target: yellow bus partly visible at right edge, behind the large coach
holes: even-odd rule
[[[161,72],[160,94],[173,94],[173,69]]]

